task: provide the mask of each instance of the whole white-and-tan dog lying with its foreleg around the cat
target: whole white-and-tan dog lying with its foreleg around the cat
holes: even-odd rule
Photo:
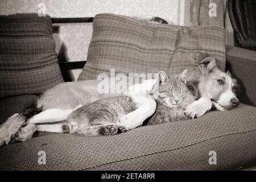
[[[185,108],[185,115],[199,118],[212,107],[224,111],[237,107],[237,81],[230,72],[222,72],[216,66],[216,60],[205,54],[197,54],[195,68],[188,74],[189,88],[198,96],[198,100]],[[110,78],[114,79],[114,78]],[[106,80],[109,82],[109,80]],[[142,83],[130,86],[126,93],[99,93],[97,88],[100,81],[88,80],[65,82],[46,90],[35,105],[16,113],[0,126],[0,146],[8,144],[11,139],[24,141],[30,139],[38,131],[56,132],[56,122],[68,118],[72,111],[82,105],[92,103],[101,98],[125,94],[135,101],[137,108],[125,115],[120,122],[127,129],[142,125],[144,120],[154,114],[156,102],[149,91],[157,79],[144,80]],[[111,85],[110,85],[111,86]],[[47,125],[46,125],[47,123]],[[51,123],[49,125],[49,123]],[[43,126],[43,127],[42,127]]]

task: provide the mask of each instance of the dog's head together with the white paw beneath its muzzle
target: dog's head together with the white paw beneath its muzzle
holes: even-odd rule
[[[197,64],[187,80],[188,88],[191,88],[199,99],[185,108],[185,115],[190,118],[199,118],[212,106],[220,111],[238,107],[240,101],[237,94],[240,86],[230,72],[220,71],[215,59],[207,54],[197,54],[194,59]]]

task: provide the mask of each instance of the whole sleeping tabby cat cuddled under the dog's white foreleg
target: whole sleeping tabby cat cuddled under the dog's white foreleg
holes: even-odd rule
[[[159,72],[158,79],[150,91],[156,100],[156,112],[147,125],[156,125],[184,119],[184,108],[195,97],[185,85],[187,70],[179,76],[168,79],[166,73]],[[61,122],[61,133],[83,135],[114,135],[127,131],[119,119],[137,109],[129,96],[104,98],[84,105],[73,111],[67,121]]]

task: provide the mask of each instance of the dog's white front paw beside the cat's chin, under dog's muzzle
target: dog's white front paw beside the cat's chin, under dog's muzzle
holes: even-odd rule
[[[212,108],[212,101],[207,97],[201,97],[191,105],[185,107],[184,113],[190,118],[199,118]]]

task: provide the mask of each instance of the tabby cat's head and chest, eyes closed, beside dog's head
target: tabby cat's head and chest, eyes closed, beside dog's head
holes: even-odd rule
[[[192,82],[187,82],[187,69],[179,76],[170,79],[166,75],[162,77],[164,82],[159,83],[158,88],[154,88],[154,85],[151,90],[151,94],[156,97],[156,111],[148,118],[146,125],[187,119],[184,108],[197,98],[196,86]]]

